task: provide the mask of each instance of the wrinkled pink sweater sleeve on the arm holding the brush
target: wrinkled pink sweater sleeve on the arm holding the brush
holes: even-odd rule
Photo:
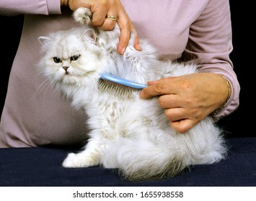
[[[213,115],[220,118],[239,106],[240,86],[229,55],[233,50],[231,14],[228,0],[210,0],[200,17],[190,27],[190,37],[183,54],[186,60],[200,63],[200,72],[224,75],[231,85],[231,96],[224,108]]]

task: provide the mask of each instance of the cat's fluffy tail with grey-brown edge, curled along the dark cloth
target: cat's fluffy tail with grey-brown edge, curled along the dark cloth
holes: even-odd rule
[[[131,181],[158,180],[175,177],[188,166],[182,151],[159,148],[151,142],[141,144],[122,139],[115,149],[105,155],[102,164],[107,168],[118,167],[123,179]]]

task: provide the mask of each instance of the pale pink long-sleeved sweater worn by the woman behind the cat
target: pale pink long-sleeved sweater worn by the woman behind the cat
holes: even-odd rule
[[[229,59],[232,51],[229,0],[122,0],[139,36],[146,37],[165,59],[193,58],[200,71],[224,75],[231,98],[213,118],[239,106],[239,83]],[[37,37],[76,26],[68,8],[56,0],[0,0],[0,14],[25,14],[1,116],[0,147],[72,144],[84,139],[83,114],[53,88],[42,85],[36,70]]]

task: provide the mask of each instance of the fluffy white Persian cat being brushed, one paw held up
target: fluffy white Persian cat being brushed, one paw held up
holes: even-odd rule
[[[133,36],[124,55],[117,52],[120,29],[102,31],[90,27],[91,11],[80,8],[74,19],[81,27],[40,37],[40,72],[71,98],[75,108],[86,112],[89,140],[79,153],[70,153],[63,167],[102,165],[116,168],[129,180],[175,177],[193,164],[224,159],[226,147],[221,129],[209,116],[185,134],[174,131],[157,98],[142,100],[99,88],[102,73],[136,83],[196,73],[196,65],[163,62],[149,42],[142,51],[133,47]]]

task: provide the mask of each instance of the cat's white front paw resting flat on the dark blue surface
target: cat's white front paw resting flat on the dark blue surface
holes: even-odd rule
[[[69,154],[66,159],[63,161],[63,167],[91,167],[94,165],[98,165],[99,161],[95,160],[93,156],[85,156],[82,153]]]

